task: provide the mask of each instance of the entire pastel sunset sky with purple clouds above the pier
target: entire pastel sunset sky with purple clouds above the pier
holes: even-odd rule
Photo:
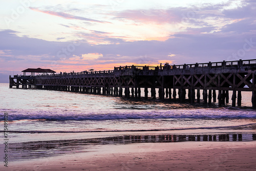
[[[255,59],[254,0],[0,0],[0,82],[27,68]]]

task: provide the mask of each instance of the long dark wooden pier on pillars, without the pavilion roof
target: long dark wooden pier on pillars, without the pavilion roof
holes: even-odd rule
[[[219,106],[229,102],[230,91],[232,106],[241,106],[241,92],[250,91],[252,106],[256,108],[255,71],[256,59],[166,64],[160,67],[120,66],[112,71],[14,75],[10,76],[10,88],[19,88],[21,85],[25,89],[70,91],[126,98],[172,99],[190,103],[200,103],[202,97],[203,103],[216,102],[218,99]]]

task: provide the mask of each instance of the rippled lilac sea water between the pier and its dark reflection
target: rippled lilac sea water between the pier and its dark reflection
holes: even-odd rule
[[[251,135],[255,138],[256,133],[256,111],[251,109],[250,92],[242,93],[242,108],[231,108],[230,104],[218,108],[215,103],[191,105],[168,100],[9,89],[8,83],[0,83],[0,90],[0,126],[4,126],[7,112],[13,149],[26,142],[118,135],[230,134],[249,135],[252,140]]]

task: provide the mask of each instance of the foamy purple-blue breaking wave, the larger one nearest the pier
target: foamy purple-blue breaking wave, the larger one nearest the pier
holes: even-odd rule
[[[99,113],[100,112],[100,113]],[[114,120],[114,119],[207,119],[256,118],[255,110],[183,109],[183,110],[112,110],[112,111],[15,111],[8,120]],[[4,116],[0,117],[4,120]]]

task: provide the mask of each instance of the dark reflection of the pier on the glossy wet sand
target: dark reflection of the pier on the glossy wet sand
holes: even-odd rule
[[[88,152],[95,145],[161,143],[184,141],[253,141],[256,134],[220,134],[220,135],[124,135],[96,139],[36,141],[10,143],[9,155],[12,161],[46,158],[70,153]],[[97,149],[94,149],[97,150]]]

